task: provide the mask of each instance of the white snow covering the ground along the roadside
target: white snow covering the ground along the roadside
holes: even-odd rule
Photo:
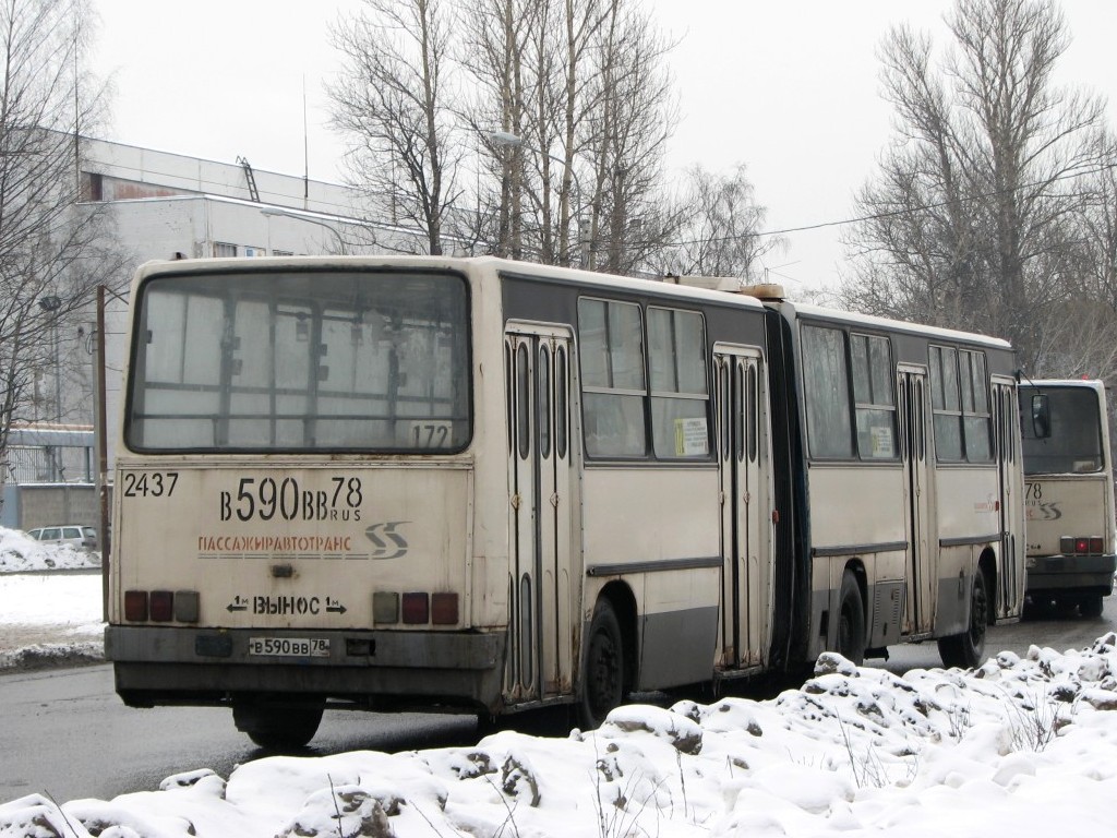
[[[16,608],[99,630],[99,579],[0,575],[4,635]],[[566,739],[270,756],[228,779],[182,765],[107,801],[31,794],[0,803],[0,838],[1115,835],[1114,711],[1114,634],[903,678],[824,655],[771,701],[630,705]]]

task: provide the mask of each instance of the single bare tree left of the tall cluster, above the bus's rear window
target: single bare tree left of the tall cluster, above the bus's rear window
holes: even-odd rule
[[[328,86],[333,124],[350,140],[350,178],[373,206],[426,235],[442,228],[459,196],[464,154],[448,88],[450,22],[441,0],[364,0],[363,13],[331,30],[345,55]]]

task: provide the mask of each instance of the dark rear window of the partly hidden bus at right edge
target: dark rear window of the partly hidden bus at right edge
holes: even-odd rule
[[[1047,396],[1048,434],[1032,420],[1032,397]],[[1086,474],[1105,467],[1097,393],[1086,387],[1020,388],[1024,474]],[[1047,417],[1044,417],[1047,418]]]

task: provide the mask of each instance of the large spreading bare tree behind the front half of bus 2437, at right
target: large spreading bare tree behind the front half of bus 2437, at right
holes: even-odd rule
[[[905,27],[884,44],[897,137],[858,199],[848,305],[991,332],[1030,369],[1073,254],[1080,177],[1097,168],[1096,97],[1058,89],[1050,0],[957,0],[943,69]]]

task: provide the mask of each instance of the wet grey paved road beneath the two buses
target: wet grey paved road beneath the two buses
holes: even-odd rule
[[[996,627],[986,651],[1024,655],[1032,644],[1060,651],[1081,648],[1115,626],[1117,598],[1109,598],[1097,619]],[[903,674],[942,661],[935,644],[927,642],[894,647],[888,661],[869,665]],[[327,712],[307,754],[469,744],[476,736],[471,716]],[[59,802],[107,800],[157,789],[180,771],[208,768],[228,777],[238,763],[262,755],[233,727],[227,710],[125,707],[113,692],[107,665],[0,675],[0,802],[31,792],[49,793]]]

